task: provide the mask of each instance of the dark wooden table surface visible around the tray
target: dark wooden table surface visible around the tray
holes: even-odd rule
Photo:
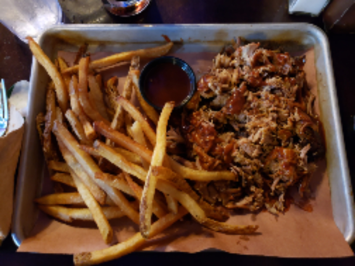
[[[307,22],[323,28],[321,17],[288,14],[286,0],[152,0],[141,14],[130,18],[110,17],[113,23],[280,23]],[[66,20],[69,21],[69,20]],[[355,186],[355,35],[327,33],[334,67],[340,115],[352,184]],[[0,78],[7,88],[20,80],[29,80],[32,55],[26,44],[0,24]],[[321,244],[321,243],[320,243]],[[355,245],[352,245],[355,251]],[[8,237],[0,247],[0,265],[67,265],[69,255],[15,253],[16,246]],[[135,253],[105,265],[219,265],[234,261],[239,264],[266,265],[355,265],[354,257],[344,259],[280,259],[275,257],[230,255],[219,252],[191,254]]]

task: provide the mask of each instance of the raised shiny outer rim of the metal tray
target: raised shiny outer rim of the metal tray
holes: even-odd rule
[[[350,244],[354,241],[355,239],[355,210],[354,210],[354,199],[353,199],[353,194],[352,194],[352,188],[351,188],[351,181],[350,181],[350,174],[349,174],[349,168],[348,168],[348,162],[346,158],[346,153],[345,153],[345,144],[343,140],[343,132],[342,132],[342,126],[341,126],[341,121],[340,121],[340,113],[339,113],[339,108],[338,108],[338,98],[337,98],[337,93],[335,89],[335,81],[334,81],[334,75],[333,75],[333,67],[332,67],[332,61],[331,61],[331,56],[330,56],[330,49],[329,49],[329,43],[326,34],[322,31],[317,26],[314,26],[313,24],[309,23],[255,23],[255,24],[61,24],[57,26],[53,26],[49,29],[47,29],[45,32],[43,32],[39,39],[38,43],[40,46],[43,44],[43,40],[45,39],[46,36],[52,34],[53,32],[55,33],[56,31],[111,31],[111,30],[122,30],[122,29],[129,29],[129,28],[206,28],[206,27],[214,27],[214,28],[233,28],[234,30],[236,29],[255,29],[255,30],[266,30],[266,31],[287,31],[287,30],[294,30],[298,29],[300,31],[306,31],[307,33],[313,34],[318,38],[318,42],[324,52],[324,57],[326,60],[326,65],[325,65],[325,72],[327,74],[327,82],[329,83],[329,101],[331,106],[334,108],[334,116],[335,116],[335,134],[339,136],[336,141],[336,145],[339,149],[339,161],[340,161],[340,167],[341,167],[341,176],[342,176],[342,181],[344,182],[344,192],[346,194],[345,196],[345,209],[347,210],[348,214],[348,220],[346,221],[346,232],[343,232],[345,240]],[[142,42],[144,43],[144,42]],[[34,57],[32,59],[32,69],[31,69],[31,78],[30,78],[30,91],[31,93],[31,88],[32,88],[32,80],[35,79],[36,72],[38,71],[38,62],[35,61]],[[33,81],[35,82],[35,81]],[[29,100],[29,106],[31,106],[31,99]],[[25,132],[26,132],[26,127],[25,127]],[[25,134],[24,134],[25,137]],[[29,141],[29,140],[28,140]],[[26,147],[26,141],[23,141],[22,143],[22,149]],[[21,188],[21,180],[23,176],[26,174],[22,167],[23,165],[23,160],[25,159],[26,152],[21,153],[21,158],[20,158],[20,168],[18,172],[18,181],[16,184],[16,194],[15,194],[15,203],[14,203],[14,213],[13,213],[13,221],[12,221],[12,238],[17,246],[19,246],[22,242],[22,240],[25,238],[23,234],[22,228],[18,225],[16,222],[16,218],[18,215],[18,210],[20,208],[20,203],[18,202],[18,199],[21,196],[21,192],[23,191]],[[329,178],[329,182],[332,183],[332,179]],[[332,194],[332,205],[333,205],[333,193]],[[334,206],[333,206],[333,217],[334,217]],[[338,226],[339,227],[339,226]],[[339,228],[340,229],[340,228]],[[341,229],[340,229],[341,230]]]

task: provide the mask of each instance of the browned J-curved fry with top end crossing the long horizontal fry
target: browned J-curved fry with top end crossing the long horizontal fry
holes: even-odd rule
[[[90,62],[90,57],[86,56],[80,59],[79,62],[79,83],[78,83],[78,96],[81,106],[83,107],[84,113],[91,118],[91,120],[103,121],[106,124],[110,122],[102,117],[100,113],[93,108],[89,100],[88,95],[88,66]]]

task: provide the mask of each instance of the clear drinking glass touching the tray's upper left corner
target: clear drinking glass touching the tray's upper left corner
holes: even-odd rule
[[[57,0],[0,0],[0,6],[1,23],[25,42],[62,21]]]

